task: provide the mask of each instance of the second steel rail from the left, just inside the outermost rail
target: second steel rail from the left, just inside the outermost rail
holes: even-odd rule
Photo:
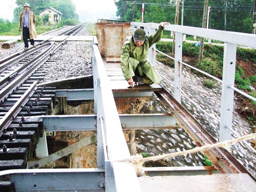
[[[52,44],[51,42],[48,42],[45,45],[50,45]],[[47,52],[47,51],[46,51]],[[15,74],[18,74],[19,72],[24,71],[26,68],[28,68],[30,65],[32,65],[37,59],[39,59],[41,56],[43,56],[46,52],[42,52],[39,55],[35,56],[33,59],[31,59],[30,61],[28,61],[27,63],[25,63],[24,65],[16,68],[15,70],[13,70],[11,73],[6,74],[4,77],[2,77],[0,79],[0,86],[2,86],[3,84],[5,84],[6,82],[10,81],[10,78],[13,77]]]

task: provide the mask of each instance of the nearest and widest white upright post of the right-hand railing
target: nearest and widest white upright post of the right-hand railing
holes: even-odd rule
[[[224,44],[219,141],[231,139],[231,131],[228,128],[232,127],[234,90],[229,88],[229,86],[234,86],[236,53],[237,45],[230,43]]]

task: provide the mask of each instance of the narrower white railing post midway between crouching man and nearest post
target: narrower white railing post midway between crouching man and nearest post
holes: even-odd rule
[[[181,73],[182,64],[182,33],[176,32],[175,68],[174,68],[174,98],[181,103]]]

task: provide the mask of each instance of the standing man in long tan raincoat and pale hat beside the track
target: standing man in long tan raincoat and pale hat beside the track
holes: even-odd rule
[[[25,50],[29,47],[28,39],[30,44],[36,48],[34,38],[37,37],[35,30],[36,18],[35,14],[30,11],[30,5],[26,3],[24,5],[25,11],[20,13],[18,30],[22,32],[22,40],[24,40]]]

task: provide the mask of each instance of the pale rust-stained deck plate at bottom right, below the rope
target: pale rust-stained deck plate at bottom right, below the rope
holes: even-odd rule
[[[141,191],[220,192],[256,191],[256,182],[247,174],[139,177]]]

